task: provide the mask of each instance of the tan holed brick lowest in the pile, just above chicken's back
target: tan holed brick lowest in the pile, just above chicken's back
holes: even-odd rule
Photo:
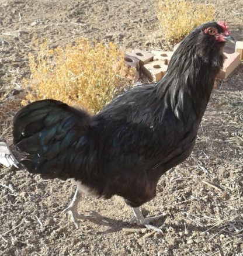
[[[162,60],[152,61],[143,66],[143,72],[152,81],[157,82],[165,75],[167,67],[168,65]]]

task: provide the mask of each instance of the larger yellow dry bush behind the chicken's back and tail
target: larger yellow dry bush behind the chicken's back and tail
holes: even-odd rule
[[[44,42],[36,58],[29,55],[29,62],[32,75],[24,81],[29,93],[23,103],[57,99],[93,113],[131,85],[136,74],[124,65],[123,53],[115,44],[105,46],[88,39],[54,50]]]

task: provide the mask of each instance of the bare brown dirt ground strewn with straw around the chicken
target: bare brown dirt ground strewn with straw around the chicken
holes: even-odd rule
[[[243,40],[243,1],[207,2]],[[172,49],[156,10],[155,0],[0,1],[0,141],[11,139],[33,38],[53,47],[85,36],[123,48]],[[71,181],[1,166],[0,255],[243,255],[243,64],[217,84],[192,155],[160,179],[157,197],[143,207],[147,216],[167,214],[153,223],[165,221],[162,234],[123,230],[139,227],[129,224],[131,210],[119,197],[82,199],[79,211],[91,217],[75,229],[61,212],[75,191]]]

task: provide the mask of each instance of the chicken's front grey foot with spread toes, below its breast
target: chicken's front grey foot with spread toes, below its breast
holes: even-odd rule
[[[155,216],[155,217],[144,218],[144,216],[142,215],[140,207],[132,207],[131,209],[133,210],[134,217],[131,218],[130,224],[136,223],[139,226],[147,227],[147,229],[155,230],[159,233],[162,232],[162,230],[159,229],[158,227],[152,226],[150,224],[150,222],[152,222],[153,220],[157,220],[157,219],[160,219],[161,217],[166,216],[165,214],[158,215],[158,216]]]

